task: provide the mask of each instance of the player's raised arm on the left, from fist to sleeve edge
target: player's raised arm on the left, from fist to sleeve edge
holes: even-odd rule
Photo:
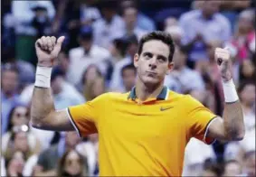
[[[50,87],[53,61],[61,51],[63,41],[63,36],[57,42],[55,37],[43,36],[35,42],[38,65],[31,106],[31,124],[35,128],[54,131],[74,130],[68,112],[55,110]]]

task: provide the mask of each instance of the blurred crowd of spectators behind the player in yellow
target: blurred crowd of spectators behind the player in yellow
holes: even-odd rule
[[[98,135],[44,131],[29,125],[36,67],[34,42],[64,35],[52,70],[56,109],[82,104],[135,84],[137,42],[154,30],[171,33],[175,70],[165,84],[223,114],[214,49],[228,46],[246,135],[206,145],[192,138],[184,175],[255,176],[255,14],[252,1],[1,1],[1,176],[98,176]],[[109,106],[110,107],[110,106]]]

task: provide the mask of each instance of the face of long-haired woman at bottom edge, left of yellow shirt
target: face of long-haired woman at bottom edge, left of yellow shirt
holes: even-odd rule
[[[81,159],[79,154],[75,151],[71,151],[66,157],[64,171],[71,175],[81,174],[82,166],[80,161]]]

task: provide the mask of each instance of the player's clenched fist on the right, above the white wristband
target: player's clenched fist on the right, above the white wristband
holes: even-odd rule
[[[230,58],[231,54],[228,48],[215,49],[215,61],[217,62],[219,69],[221,70],[224,82],[232,79],[232,64]]]

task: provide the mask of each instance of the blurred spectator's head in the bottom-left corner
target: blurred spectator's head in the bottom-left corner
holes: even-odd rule
[[[6,176],[23,177],[25,157],[21,151],[16,151],[9,160],[6,161]]]

